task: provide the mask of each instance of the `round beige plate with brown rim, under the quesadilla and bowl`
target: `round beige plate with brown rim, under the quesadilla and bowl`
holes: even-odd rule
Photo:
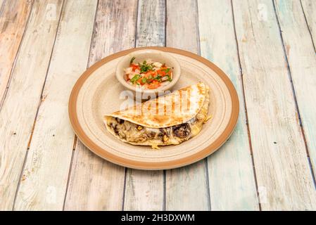
[[[108,133],[103,115],[119,110],[123,86],[115,79],[115,67],[122,56],[139,49],[158,49],[172,54],[182,67],[174,90],[198,81],[210,86],[208,114],[212,119],[200,134],[177,146],[153,150],[132,146]],[[103,58],[77,80],[69,100],[69,116],[78,138],[87,148],[110,162],[135,169],[171,169],[206,158],[229,138],[239,114],[239,100],[232,82],[220,68],[188,51],[165,47],[129,49]]]

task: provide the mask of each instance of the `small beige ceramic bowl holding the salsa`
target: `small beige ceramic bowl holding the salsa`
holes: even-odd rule
[[[125,79],[125,72],[124,69],[129,67],[129,63],[131,58],[135,57],[134,62],[135,63],[141,63],[144,60],[151,59],[154,62],[160,62],[165,63],[168,65],[168,67],[172,68],[172,81],[168,85],[160,86],[158,89],[141,89],[137,88],[137,86],[133,86],[131,84],[128,84]],[[118,81],[129,91],[132,91],[132,94],[134,95],[134,99],[136,100],[147,100],[148,98],[153,98],[153,96],[157,97],[161,94],[164,94],[165,91],[170,91],[172,89],[172,86],[175,86],[175,84],[178,82],[181,74],[181,68],[178,63],[178,61],[170,56],[169,53],[166,53],[164,51],[158,51],[153,49],[146,49],[146,50],[138,50],[133,51],[132,53],[127,54],[124,56],[120,62],[118,63],[116,67],[116,78]],[[150,97],[149,97],[150,96]]]

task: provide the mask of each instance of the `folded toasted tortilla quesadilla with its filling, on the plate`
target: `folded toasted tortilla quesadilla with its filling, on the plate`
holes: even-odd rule
[[[177,145],[208,120],[209,87],[202,82],[104,116],[106,129],[132,145]]]

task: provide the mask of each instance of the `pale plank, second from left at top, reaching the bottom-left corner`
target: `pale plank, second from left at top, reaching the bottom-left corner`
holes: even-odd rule
[[[56,20],[45,20],[47,4]],[[0,113],[0,210],[11,210],[56,37],[62,1],[35,1]],[[34,44],[36,43],[36,44]]]

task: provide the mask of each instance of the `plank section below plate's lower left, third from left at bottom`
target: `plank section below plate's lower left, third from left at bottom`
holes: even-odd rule
[[[125,168],[75,148],[64,210],[121,210]]]

